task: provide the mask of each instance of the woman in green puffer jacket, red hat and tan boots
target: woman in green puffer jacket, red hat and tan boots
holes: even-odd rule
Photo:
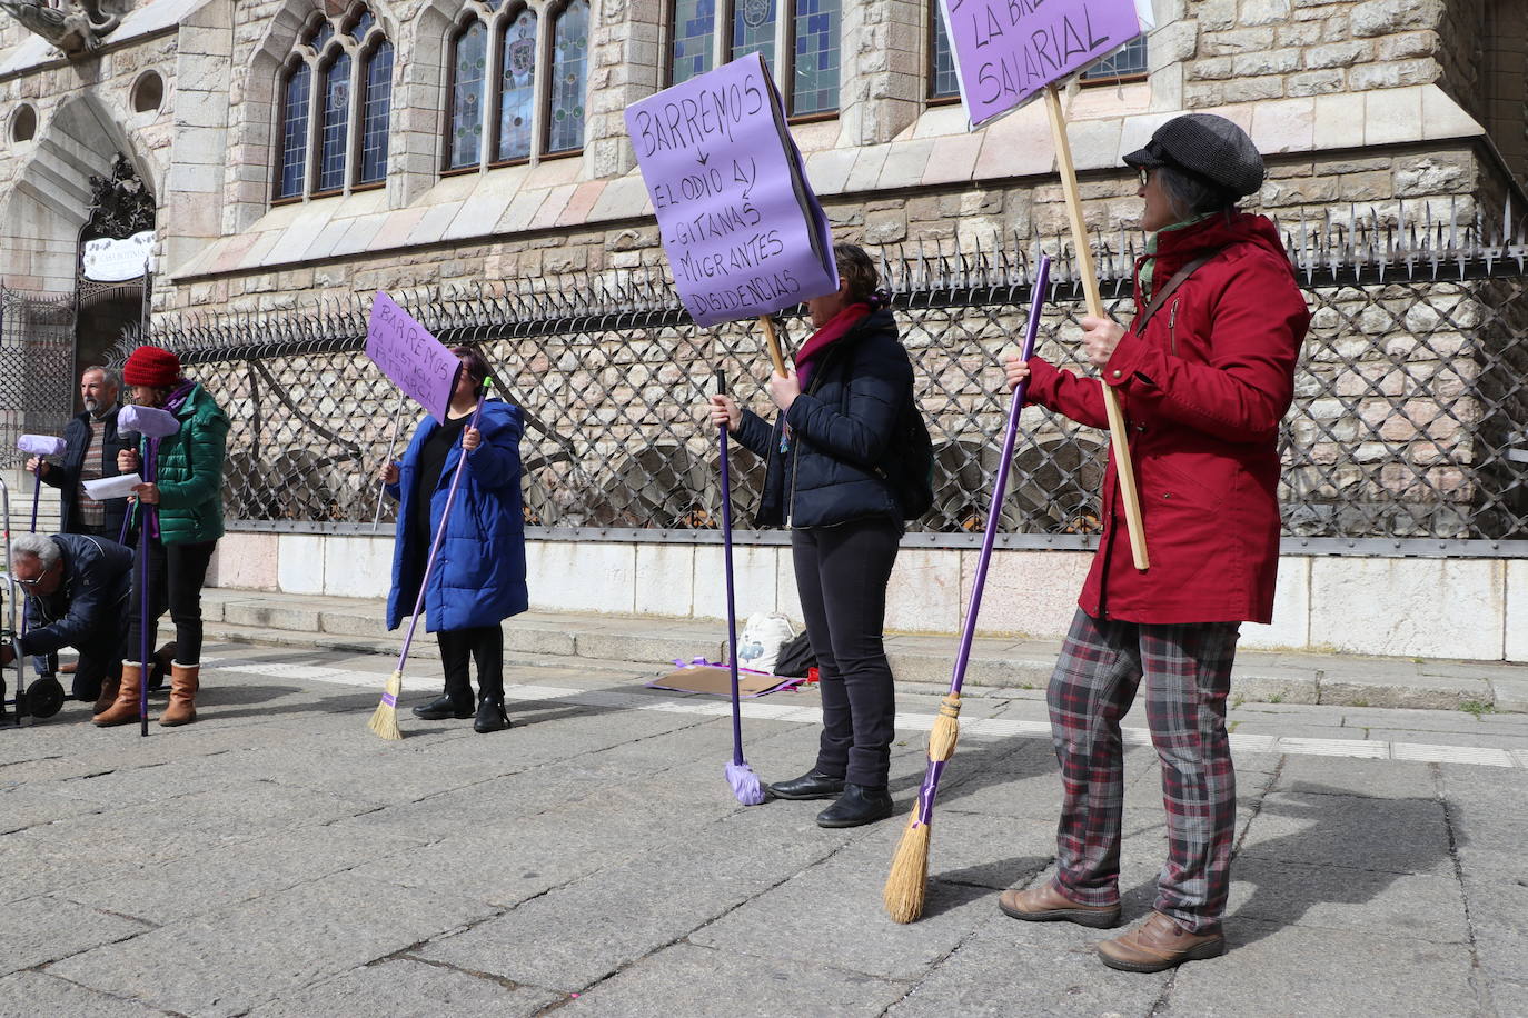
[[[176,624],[176,661],[170,668],[170,705],[160,725],[186,725],[196,720],[196,693],[202,670],[202,585],[206,568],[223,536],[223,450],[228,441],[228,415],[200,385],[182,377],[180,360],[159,346],[139,346],[122,368],[133,401],[174,414],[180,430],[159,440],[153,484],[141,484],[136,523],[142,507],[154,505],[150,519],[150,624],[157,624],[165,609]],[[118,469],[131,473],[147,455],[147,441],[138,452],[124,450]],[[157,519],[157,527],[154,525]],[[133,574],[131,620],[127,655],[141,646],[142,591],[141,571]],[[138,661],[122,662],[116,699],[92,720],[96,725],[125,725],[138,720]]]

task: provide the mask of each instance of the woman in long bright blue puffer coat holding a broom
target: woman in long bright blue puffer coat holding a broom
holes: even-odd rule
[[[509,714],[500,623],[529,606],[520,507],[521,415],[518,406],[484,400],[483,417],[477,427],[469,427],[489,368],[471,346],[455,346],[451,353],[461,359],[463,369],[445,423],[425,418],[402,462],[390,462],[379,473],[387,493],[399,502],[387,627],[396,629],[414,607],[451,479],[465,456],[466,473],[425,591],[425,630],[440,643],[446,688],[416,707],[414,714],[423,720],[474,717],[474,731],[503,731],[509,728]],[[469,658],[478,673],[475,705]]]

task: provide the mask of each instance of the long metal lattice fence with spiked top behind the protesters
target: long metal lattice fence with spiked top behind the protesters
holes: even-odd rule
[[[1300,250],[1293,238],[1291,249]],[[1016,252],[995,244],[972,255],[883,253],[935,446],[935,504],[915,531],[984,527],[1008,408],[999,354],[1015,348],[1030,302],[1030,259]],[[1108,310],[1120,321],[1132,314],[1132,255],[1123,243],[1099,252]],[[1476,250],[1400,272],[1354,255],[1351,244],[1346,259],[1322,258],[1300,263],[1314,317],[1280,437],[1287,533],[1528,536],[1528,493],[1510,455],[1525,441],[1528,411],[1522,267]],[[1039,351],[1085,371],[1083,302],[1070,263],[1053,278]],[[756,324],[697,330],[656,267],[518,290],[394,296],[443,342],[477,345],[501,394],[524,408],[527,523],[718,525],[717,435],[703,404],[720,368],[740,403],[770,415]],[[390,449],[400,397],[361,353],[367,308],[358,295],[303,314],[156,324],[150,339],[180,351],[234,418],[229,516],[371,519],[371,475]],[[798,337],[805,328],[799,313],[782,325]],[[402,406],[400,418],[399,444],[417,408]],[[1021,426],[1002,530],[1096,533],[1106,433],[1039,408],[1027,409]],[[733,499],[746,525],[764,469],[747,453],[735,464]]]

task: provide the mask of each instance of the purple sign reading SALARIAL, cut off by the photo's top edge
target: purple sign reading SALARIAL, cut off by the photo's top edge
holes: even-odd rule
[[[972,127],[1135,40],[1151,0],[940,0]]]

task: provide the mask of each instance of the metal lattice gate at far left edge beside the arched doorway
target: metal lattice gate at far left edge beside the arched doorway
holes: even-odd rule
[[[15,453],[21,435],[64,433],[73,372],[73,301],[0,287],[0,449]]]

